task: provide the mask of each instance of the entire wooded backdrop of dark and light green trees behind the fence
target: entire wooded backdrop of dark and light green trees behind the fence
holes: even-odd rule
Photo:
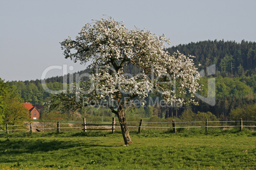
[[[207,97],[208,79],[215,79],[215,105],[208,105],[198,99],[199,105],[162,107],[156,104],[152,106],[150,105],[150,98],[157,98],[157,96],[149,95],[146,98],[148,102],[146,102],[144,107],[128,110],[127,115],[139,117],[157,116],[164,119],[168,117],[182,117],[187,112],[193,112],[194,114],[203,112],[215,115],[219,120],[235,119],[243,116],[245,119],[256,119],[255,109],[253,110],[255,108],[254,96],[256,93],[256,42],[200,41],[180,44],[166,50],[171,54],[178,50],[185,55],[196,56],[194,62],[196,65],[201,65],[198,67],[199,71],[206,70],[210,65],[216,65],[214,75],[201,77],[199,81],[200,84],[204,85],[203,91],[199,95]],[[90,69],[82,70],[76,74],[83,74],[85,72],[90,72]],[[139,72],[139,68],[129,66],[125,72],[136,73]],[[70,80],[72,77],[73,80]],[[67,80],[66,82],[74,82],[75,75],[68,74],[64,77],[50,77],[45,80],[46,86],[51,90],[60,90],[63,88],[64,79]],[[11,81],[8,82],[8,86],[10,90],[17,91],[17,98],[30,102],[32,105],[45,105],[54,95],[46,92],[41,86],[41,80],[38,79],[36,81]],[[248,113],[248,110],[251,110],[250,113]],[[44,112],[41,114],[46,114]],[[104,108],[84,108],[80,111],[82,116],[102,116],[104,114],[111,115],[110,110]],[[71,119],[68,113],[63,116],[66,119]]]

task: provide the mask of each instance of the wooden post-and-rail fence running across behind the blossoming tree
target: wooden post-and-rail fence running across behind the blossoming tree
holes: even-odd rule
[[[176,122],[173,119],[172,122],[143,122],[141,119],[139,122],[127,122],[129,129],[138,128],[138,133],[141,133],[141,129],[153,128],[153,129],[172,129],[173,133],[177,132],[178,128],[205,128],[205,132],[208,132],[208,128],[234,128],[238,127],[240,131],[243,131],[243,128],[256,128],[256,121],[194,121],[194,122]],[[253,125],[252,125],[253,124]],[[73,126],[75,125],[75,126]],[[86,119],[83,118],[83,122],[55,122],[55,123],[45,123],[45,124],[23,124],[23,125],[8,125],[0,126],[0,131],[6,131],[8,134],[10,131],[29,131],[32,132],[41,132],[48,129],[55,129],[57,133],[60,132],[60,129],[82,129],[82,131],[112,131],[115,133],[115,129],[120,129],[119,124],[116,124],[115,117],[113,117],[112,122],[86,122]]]

